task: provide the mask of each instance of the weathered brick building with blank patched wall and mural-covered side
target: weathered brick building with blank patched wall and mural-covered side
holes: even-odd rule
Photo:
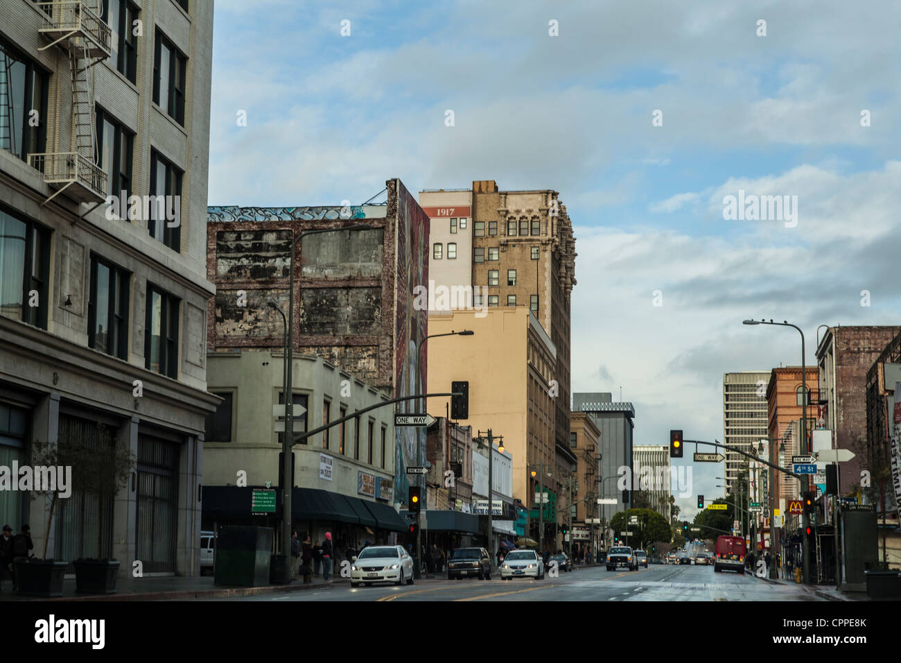
[[[321,357],[392,398],[426,391],[428,311],[415,298],[429,279],[428,217],[400,180],[386,187],[386,205],[209,207],[210,348],[283,347],[294,245],[294,352]],[[370,228],[340,230],[362,224]],[[297,242],[323,229],[335,232]],[[405,401],[397,410],[422,411],[416,407]],[[397,495],[409,486],[406,467],[422,465],[417,448],[424,453],[425,428],[395,429]]]

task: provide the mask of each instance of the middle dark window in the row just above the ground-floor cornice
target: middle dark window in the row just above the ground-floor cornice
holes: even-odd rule
[[[129,272],[91,255],[91,292],[87,302],[87,345],[128,359]]]

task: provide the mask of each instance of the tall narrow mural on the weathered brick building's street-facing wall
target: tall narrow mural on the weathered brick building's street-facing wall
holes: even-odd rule
[[[415,198],[400,180],[396,181],[397,195],[397,280],[396,280],[396,331],[395,331],[395,385],[396,396],[416,393],[416,374],[419,388],[426,391],[426,362],[422,341],[428,329],[428,311],[413,308],[413,289],[429,282],[429,218]],[[401,412],[416,411],[416,402],[398,404]],[[425,401],[421,407],[425,409]],[[395,499],[406,502],[410,486],[406,468],[421,465],[416,457],[417,440],[425,454],[425,428],[395,428]]]

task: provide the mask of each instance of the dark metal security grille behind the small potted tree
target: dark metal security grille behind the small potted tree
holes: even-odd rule
[[[85,444],[99,448],[104,444],[101,428],[96,421],[59,415],[59,446]],[[107,432],[105,444],[114,440]],[[113,557],[113,499],[96,492],[79,490],[56,503],[56,552],[54,557],[69,562],[67,573],[75,573],[71,562],[76,559],[107,559]]]

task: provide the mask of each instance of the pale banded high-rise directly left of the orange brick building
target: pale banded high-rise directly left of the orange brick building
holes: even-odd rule
[[[769,371],[742,371],[723,374],[723,443],[751,453],[751,445],[767,438],[767,384]],[[747,477],[749,459],[733,451],[725,452],[724,494],[733,483]],[[754,454],[756,456],[756,453]],[[742,474],[743,473],[743,474]]]

